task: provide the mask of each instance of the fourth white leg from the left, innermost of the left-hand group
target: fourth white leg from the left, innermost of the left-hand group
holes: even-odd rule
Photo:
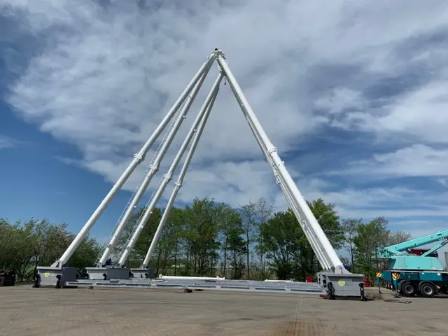
[[[183,163],[183,167],[182,167],[181,173],[179,174],[179,178],[174,185],[174,190],[173,190],[171,196],[169,197],[167,207],[165,207],[165,211],[162,215],[162,218],[160,219],[158,228],[155,231],[153,241],[151,241],[151,246],[149,246],[148,252],[146,253],[146,256],[144,259],[144,262],[140,268],[148,267],[149,260],[151,260],[151,255],[153,254],[155,246],[157,246],[157,243],[160,238],[160,234],[162,233],[163,227],[165,226],[165,223],[167,223],[169,213],[173,209],[174,200],[176,200],[177,193],[179,193],[179,190],[181,189],[183,178],[186,175],[188,166],[190,165],[191,159],[193,158],[193,154],[195,153],[197,144],[200,141],[202,132],[204,131],[205,124],[207,123],[207,119],[210,116],[210,112],[211,112],[211,109],[213,108],[214,102],[216,100],[216,96],[218,95],[219,83],[221,82],[222,78],[223,78],[223,76],[220,74],[220,76],[216,79],[214,87],[212,88],[212,92],[214,92],[214,96],[212,97],[211,102],[209,102],[209,104],[207,106],[207,110],[204,110],[206,112],[204,113],[204,116],[202,117],[199,127],[197,127],[197,133],[196,133],[195,139],[193,139],[193,143],[190,146],[190,151],[188,151],[186,160]],[[206,106],[205,105],[206,103],[207,103],[207,101],[204,103],[204,106]],[[202,109],[204,109],[204,106]]]

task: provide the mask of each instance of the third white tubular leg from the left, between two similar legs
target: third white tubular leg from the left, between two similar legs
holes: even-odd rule
[[[219,87],[219,83],[221,83],[222,78],[223,78],[223,74],[220,73],[218,78],[216,78],[216,81],[215,81],[213,87],[211,88],[211,91],[209,92],[209,95],[207,96],[207,99],[204,102],[204,105],[202,105],[202,109],[199,113],[200,115],[204,114],[205,111],[207,111],[207,107],[209,106],[211,100],[216,95],[216,92]],[[185,143],[185,141],[184,141],[184,143]],[[185,151],[185,148],[184,148],[184,151]],[[181,152],[179,151],[179,153],[181,153]],[[179,153],[178,153],[178,155],[179,155]],[[176,155],[176,159],[178,158],[178,155]],[[180,160],[180,158],[181,158],[181,155],[179,156],[179,160]],[[148,207],[146,208],[146,210],[144,212],[144,215],[141,217],[139,223],[137,224],[135,232],[132,234],[132,237],[126,246],[125,251],[123,251],[123,255],[121,255],[120,261],[118,262],[118,264],[120,266],[125,265],[125,262],[126,262],[127,258],[129,257],[129,254],[132,251],[132,248],[134,248],[134,244],[136,243],[141,232],[145,228],[145,225],[146,225],[146,222],[148,221],[149,216],[151,216],[151,214],[153,213],[153,209],[155,208],[155,205],[160,200],[160,197],[162,196],[162,194],[167,186],[167,183],[171,179],[171,175],[174,173],[174,169],[176,169],[176,166],[179,163],[179,160],[176,160],[176,159],[174,160],[172,167],[170,167],[170,169],[169,169],[169,174],[166,174],[164,176],[163,181],[160,184],[158,190],[155,191],[153,200],[151,200],[150,204],[148,205]]]

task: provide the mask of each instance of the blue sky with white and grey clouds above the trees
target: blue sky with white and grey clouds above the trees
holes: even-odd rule
[[[437,0],[3,0],[0,217],[78,231],[221,48],[305,198],[334,202],[341,218],[385,216],[414,237],[447,229],[447,33],[448,8]],[[94,237],[109,237],[148,162]],[[229,85],[176,205],[205,196],[287,207]]]

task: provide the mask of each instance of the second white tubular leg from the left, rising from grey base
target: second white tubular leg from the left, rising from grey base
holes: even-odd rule
[[[211,64],[210,64],[211,65]],[[151,183],[151,179],[153,179],[153,176],[156,172],[158,172],[160,162],[163,160],[165,154],[167,153],[167,150],[169,146],[172,144],[172,141],[174,137],[176,136],[176,133],[179,131],[179,128],[181,127],[181,124],[183,120],[185,120],[186,115],[188,111],[190,110],[191,104],[193,103],[193,100],[195,99],[197,92],[199,92],[202,83],[204,83],[204,80],[207,76],[207,73],[209,72],[210,66],[207,66],[206,69],[204,69],[204,73],[202,74],[202,77],[200,80],[197,81],[195,87],[191,91],[190,95],[186,98],[186,104],[183,108],[183,111],[181,111],[181,116],[176,120],[174,123],[174,128],[170,134],[168,134],[168,138],[165,141],[165,143],[162,145],[162,148],[160,148],[160,152],[157,154],[153,165],[151,165],[151,169],[149,170],[148,174],[146,174],[143,183],[141,184],[141,187],[137,191],[137,193],[132,198],[132,201],[129,204],[129,207],[127,207],[127,210],[125,212],[125,215],[123,216],[122,220],[118,224],[118,227],[116,228],[116,231],[113,233],[113,236],[111,238],[111,241],[109,241],[109,244],[107,245],[106,249],[104,250],[104,253],[102,257],[100,258],[98,262],[98,267],[102,267],[105,263],[107,258],[109,258],[109,255],[111,255],[113,248],[116,246],[118,239],[121,236],[121,233],[123,232],[125,225],[127,221],[129,221],[132,214],[134,214],[134,207],[137,207],[137,204],[139,204],[141,197],[143,197],[146,188],[148,188],[149,183]]]

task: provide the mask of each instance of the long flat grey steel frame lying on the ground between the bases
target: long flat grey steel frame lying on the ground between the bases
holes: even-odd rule
[[[277,283],[244,280],[163,280],[133,278],[129,280],[78,280],[70,281],[68,284],[69,286],[77,287],[177,288],[179,290],[233,290],[258,293],[323,294],[323,288],[318,283],[308,282]]]

